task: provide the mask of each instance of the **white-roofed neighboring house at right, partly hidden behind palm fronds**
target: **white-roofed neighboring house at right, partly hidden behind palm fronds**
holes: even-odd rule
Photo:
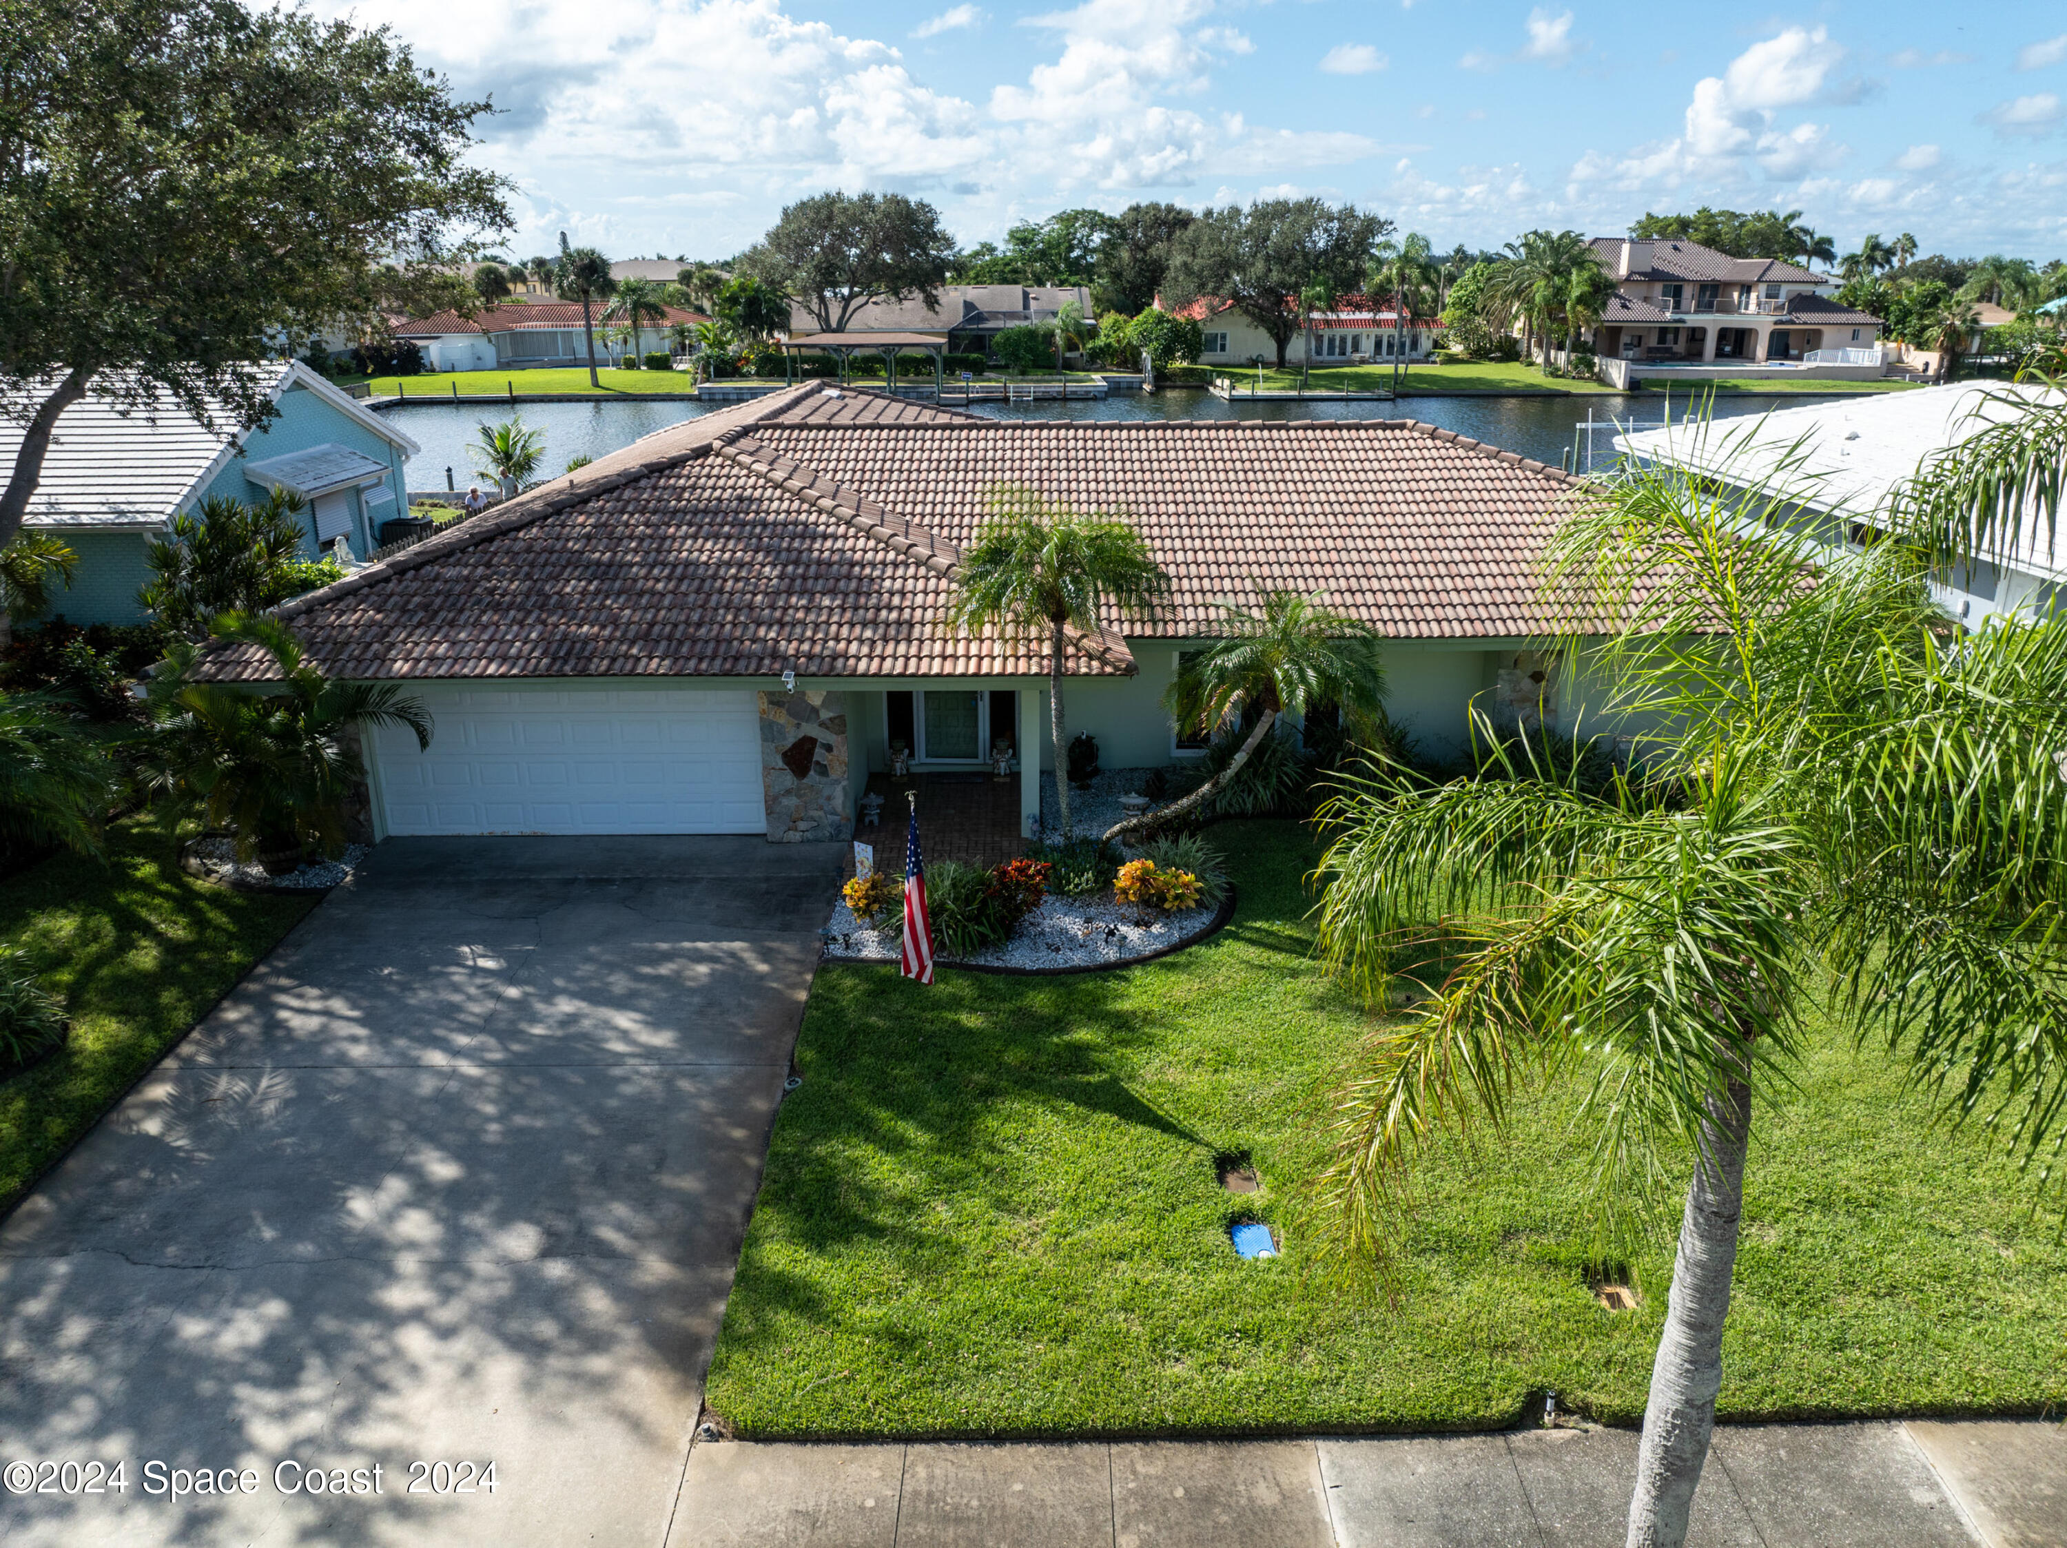
[[[2005,393],[2040,397],[2040,389],[2005,382],[1920,386],[1773,409],[1757,420],[1683,420],[1618,436],[1614,444],[1647,463],[1697,469],[1736,488],[1794,492],[1825,519],[1829,541],[1862,544],[1879,535],[1873,513],[1924,457],[2009,415]],[[2050,393],[2053,401],[2059,397]],[[1943,575],[1933,585],[1937,599],[1970,626],[2050,610],[2067,585],[2067,546],[2057,548],[2036,517],[2028,527],[2013,550]]]

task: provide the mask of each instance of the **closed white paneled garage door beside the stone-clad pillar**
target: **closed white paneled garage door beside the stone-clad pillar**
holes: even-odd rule
[[[430,752],[374,734],[389,833],[765,833],[754,694],[422,684]]]

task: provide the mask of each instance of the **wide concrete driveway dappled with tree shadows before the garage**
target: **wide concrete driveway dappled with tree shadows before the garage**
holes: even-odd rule
[[[835,887],[382,845],[0,1226],[0,1536],[661,1544]]]

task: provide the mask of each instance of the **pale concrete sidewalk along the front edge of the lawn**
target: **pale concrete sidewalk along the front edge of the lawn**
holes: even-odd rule
[[[668,1548],[1602,1548],[1633,1430],[1344,1441],[695,1447]],[[2067,1430],[1716,1430],[1699,1548],[2067,1546]]]

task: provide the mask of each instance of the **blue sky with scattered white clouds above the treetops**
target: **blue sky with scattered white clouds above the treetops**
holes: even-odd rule
[[[490,97],[523,258],[726,258],[827,188],[963,244],[1317,194],[1497,248],[1800,209],[1838,250],[2067,254],[2067,6],[1823,0],[312,0]]]

